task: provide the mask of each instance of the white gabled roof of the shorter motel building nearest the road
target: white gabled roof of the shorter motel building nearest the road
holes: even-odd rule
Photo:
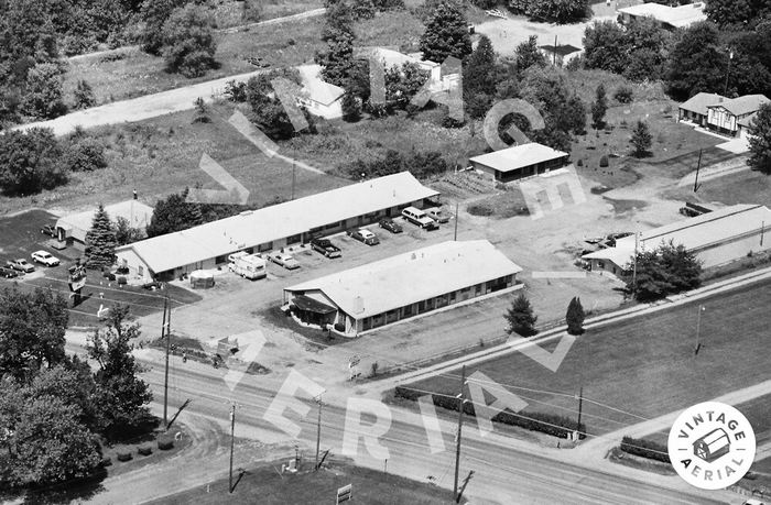
[[[442,242],[285,288],[318,289],[356,319],[387,312],[522,268],[487,240]]]

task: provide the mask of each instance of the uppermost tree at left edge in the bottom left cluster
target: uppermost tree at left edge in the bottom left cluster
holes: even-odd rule
[[[18,287],[0,293],[0,371],[29,381],[43,367],[65,361],[67,300],[47,289]]]

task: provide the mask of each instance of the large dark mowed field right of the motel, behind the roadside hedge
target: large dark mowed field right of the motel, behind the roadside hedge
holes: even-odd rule
[[[583,386],[587,431],[620,430],[768,380],[770,303],[771,282],[701,300],[706,310],[696,356],[698,304],[692,303],[588,331],[556,372],[512,353],[474,365],[467,374],[479,370],[521,396],[529,403],[525,415],[575,418]],[[455,371],[411,387],[455,395],[457,375]]]

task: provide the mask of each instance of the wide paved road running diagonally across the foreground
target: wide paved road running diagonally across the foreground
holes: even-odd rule
[[[260,376],[246,376],[232,394],[221,381],[218,370],[188,362],[184,366],[182,363],[175,363],[173,372],[174,376],[170,381],[173,386],[170,393],[172,398],[170,413],[175,411],[176,405],[189,397],[193,402],[187,408],[188,414],[217,419],[222,426],[227,426],[229,405],[235,398],[238,405],[237,435],[265,442],[291,441],[290,437],[281,433],[280,429],[262,418],[275,394],[273,385],[267,387],[258,385]],[[156,399],[162,400],[162,365],[160,363],[153,365],[152,370],[144,374],[144,378],[152,385]],[[313,402],[306,404],[312,409],[305,420],[300,420],[289,410],[284,415],[302,427],[297,440],[301,446],[307,448],[304,451],[305,457],[313,458],[316,410]],[[414,424],[402,419],[402,414],[398,409],[392,409],[392,413],[391,427],[387,435],[380,438],[389,448],[388,461],[372,459],[367,453],[363,442],[359,443],[355,461],[377,469],[386,466],[389,472],[420,481],[432,476],[433,482],[452,488],[454,435],[446,431],[444,436],[446,450],[432,454],[423,426],[420,422]],[[185,414],[182,418],[184,416]],[[362,424],[372,420],[367,416],[362,417]],[[345,425],[345,409],[325,405],[322,421],[322,450],[332,448],[334,454],[341,454]],[[480,439],[475,429],[468,428],[468,430],[471,431],[468,437],[464,437],[460,474],[463,477],[469,470],[475,471],[466,494],[478,503],[720,503],[678,491],[660,488],[626,476],[579,468],[526,451],[501,447],[496,440]],[[464,433],[466,435],[467,430],[464,430]],[[240,463],[237,460],[238,464]],[[217,469],[213,468],[210,474],[214,475]],[[160,475],[159,473],[159,477]],[[106,482],[106,487],[107,490],[111,487],[109,480]],[[169,481],[161,488],[164,493],[180,491],[170,485]],[[160,488],[152,485],[138,485],[133,487],[131,496],[142,502],[158,497],[159,492]]]

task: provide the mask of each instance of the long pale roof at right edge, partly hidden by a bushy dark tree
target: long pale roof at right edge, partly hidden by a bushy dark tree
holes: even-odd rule
[[[763,226],[771,226],[771,210],[768,207],[735,205],[642,232],[639,237],[638,248],[640,250],[655,249],[662,241],[669,243],[671,240],[675,245],[682,244],[689,251],[698,252],[710,244],[757,233]],[[623,266],[631,261],[633,255],[634,235],[631,235],[619,239],[615,248],[602,249],[585,254],[583,257],[585,260],[608,260]]]

